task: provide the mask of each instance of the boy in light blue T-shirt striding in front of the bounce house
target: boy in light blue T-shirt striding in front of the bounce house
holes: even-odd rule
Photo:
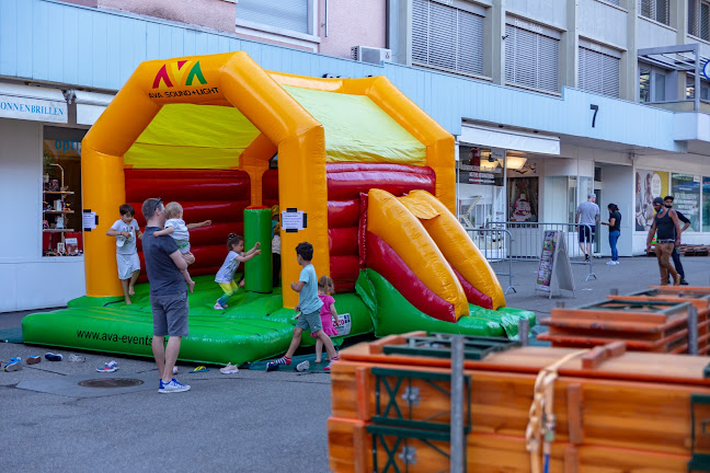
[[[323,346],[328,351],[331,362],[324,368],[325,371],[330,371],[331,365],[334,361],[337,361],[337,354],[335,348],[333,348],[333,342],[330,337],[323,332],[323,326],[321,325],[320,318],[320,308],[323,305],[320,298],[318,297],[318,276],[316,275],[316,268],[311,264],[313,258],[313,245],[304,242],[299,243],[296,246],[296,258],[298,264],[301,265],[302,269],[300,276],[298,277],[298,282],[291,282],[291,289],[298,292],[298,305],[296,305],[296,312],[300,311],[300,314],[296,315],[298,322],[294,328],[294,338],[291,338],[290,346],[288,351],[283,357],[270,361],[266,365],[266,371],[274,371],[278,369],[279,365],[290,365],[291,357],[300,345],[301,333],[305,330],[310,328],[318,339],[323,342]]]

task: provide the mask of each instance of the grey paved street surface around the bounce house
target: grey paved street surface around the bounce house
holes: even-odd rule
[[[564,301],[582,305],[660,282],[656,259],[621,258],[619,266],[596,259],[597,279],[584,281],[586,266],[573,265],[576,291],[551,300],[535,296],[537,263],[514,263],[514,287],[507,303],[545,315]],[[710,257],[683,259],[690,284],[708,285]],[[507,280],[502,280],[507,286]],[[20,326],[28,312],[0,313],[0,331]],[[187,393],[160,395],[151,360],[94,353],[87,361],[66,361],[72,350],[0,343],[0,360],[61,353],[65,361],[44,360],[21,371],[0,371],[0,469],[32,472],[148,472],[159,469],[229,472],[328,472],[325,419],[330,414],[330,376],[283,370],[242,370],[221,374],[188,374],[180,365],[179,380]],[[113,374],[95,368],[116,359]],[[135,378],[144,381],[124,394],[49,394],[80,379]],[[153,388],[149,383],[154,382]],[[22,387],[35,390],[21,389]],[[37,391],[38,390],[38,391]],[[91,388],[83,388],[83,393]],[[104,389],[105,391],[105,389]],[[65,393],[67,391],[64,391]]]

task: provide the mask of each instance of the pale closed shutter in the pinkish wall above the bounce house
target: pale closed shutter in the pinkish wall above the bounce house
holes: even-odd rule
[[[237,18],[308,33],[308,0],[239,0]]]

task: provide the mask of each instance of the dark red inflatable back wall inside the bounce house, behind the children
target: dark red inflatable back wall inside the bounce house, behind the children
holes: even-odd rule
[[[190,231],[195,255],[190,274],[217,274],[227,256],[227,235],[244,233],[244,208],[250,205],[251,195],[249,175],[243,171],[131,169],[125,174],[126,200],[136,209],[141,229],[146,226],[141,206],[149,197],[160,197],[164,204],[180,203],[186,223],[211,220],[211,226]],[[145,269],[140,244],[138,251]]]

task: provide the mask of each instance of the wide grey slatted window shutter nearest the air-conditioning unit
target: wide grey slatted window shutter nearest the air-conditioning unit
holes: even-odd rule
[[[431,0],[414,0],[412,60],[456,72],[483,73],[483,16]]]

